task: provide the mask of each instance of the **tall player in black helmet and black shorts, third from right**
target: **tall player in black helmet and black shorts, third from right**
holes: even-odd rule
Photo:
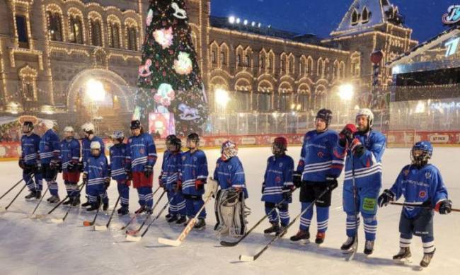
[[[324,242],[328,229],[329,207],[332,190],[338,186],[337,177],[343,169],[344,150],[338,146],[337,132],[328,129],[332,121],[332,112],[327,109],[318,111],[315,119],[316,129],[308,131],[304,136],[299,165],[294,182],[300,184],[300,201],[302,211],[316,199],[316,221],[318,233],[316,244]],[[301,178],[301,182],[300,181]],[[321,193],[329,188],[326,194]],[[313,207],[300,218],[300,228],[292,236],[292,242],[308,242],[309,227],[313,217]]]

